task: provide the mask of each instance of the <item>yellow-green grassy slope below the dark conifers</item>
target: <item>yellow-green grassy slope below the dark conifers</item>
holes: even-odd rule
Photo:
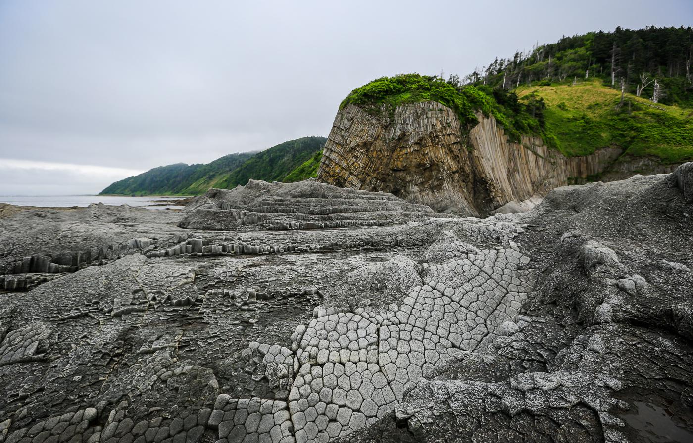
[[[653,103],[621,93],[601,80],[577,84],[519,87],[520,98],[537,96],[547,134],[567,156],[591,154],[617,145],[633,156],[651,155],[664,163],[693,160],[693,109]]]

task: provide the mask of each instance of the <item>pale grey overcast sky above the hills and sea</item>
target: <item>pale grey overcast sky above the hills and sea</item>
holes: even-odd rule
[[[0,0],[0,195],[96,193],[327,136],[381,75],[464,76],[562,35],[692,24],[690,0]]]

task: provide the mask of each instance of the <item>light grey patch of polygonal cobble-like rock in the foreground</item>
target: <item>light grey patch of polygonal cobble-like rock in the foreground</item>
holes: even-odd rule
[[[444,231],[429,250],[444,249],[438,243],[451,238],[456,235]],[[360,314],[327,315],[322,309],[296,329],[297,376],[288,400],[297,442],[327,441],[374,423],[439,361],[500,334],[527,297],[533,278],[524,269],[529,257],[517,246],[482,251],[466,245],[464,251],[442,264],[424,263],[427,284],[410,287],[409,296],[393,300],[383,312],[360,308]],[[399,263],[414,269],[395,257],[358,275],[386,270],[401,275]]]

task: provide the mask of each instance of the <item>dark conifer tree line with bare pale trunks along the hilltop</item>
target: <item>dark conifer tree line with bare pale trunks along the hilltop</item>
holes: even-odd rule
[[[599,78],[624,93],[669,105],[693,105],[693,28],[631,30],[617,27],[562,37],[535,45],[512,58],[496,58],[464,78],[450,75],[453,86],[482,84],[514,89],[520,84],[578,82]]]

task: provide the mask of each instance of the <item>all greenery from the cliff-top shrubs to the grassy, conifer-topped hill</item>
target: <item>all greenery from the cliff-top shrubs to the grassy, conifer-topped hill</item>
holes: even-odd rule
[[[565,156],[617,146],[626,157],[693,160],[693,28],[616,28],[563,37],[459,78],[383,77],[351,91],[341,107],[371,114],[432,100],[462,127],[492,115],[512,141],[541,136]]]

